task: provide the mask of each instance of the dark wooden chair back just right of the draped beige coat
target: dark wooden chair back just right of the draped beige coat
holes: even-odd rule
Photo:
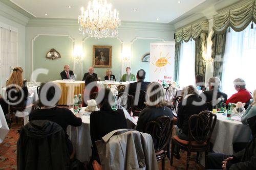
[[[166,151],[167,143],[172,136],[173,120],[169,116],[160,116],[146,124],[145,133],[151,134],[155,151]]]

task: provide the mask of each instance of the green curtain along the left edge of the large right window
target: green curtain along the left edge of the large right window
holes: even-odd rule
[[[222,80],[223,57],[226,45],[226,32],[223,34],[214,33],[211,37],[211,58],[214,59],[214,77]]]

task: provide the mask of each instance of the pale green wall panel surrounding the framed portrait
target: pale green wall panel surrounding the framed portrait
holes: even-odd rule
[[[112,74],[115,75],[116,80],[119,81],[121,78],[121,42],[116,38],[87,38],[83,42],[84,59],[83,59],[83,74],[88,72],[89,67],[93,65],[93,45],[112,45]],[[104,81],[105,71],[108,68],[94,68],[94,72],[98,74],[98,77]]]

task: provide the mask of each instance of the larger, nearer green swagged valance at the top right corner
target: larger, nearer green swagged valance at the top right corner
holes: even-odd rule
[[[228,27],[234,31],[243,31],[251,21],[256,23],[256,0],[246,0],[236,7],[230,8],[213,17],[213,30],[223,34]]]

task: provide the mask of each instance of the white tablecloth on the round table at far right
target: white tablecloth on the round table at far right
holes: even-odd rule
[[[249,126],[243,125],[237,120],[228,120],[222,113],[217,114],[217,122],[212,132],[211,142],[214,143],[213,151],[233,154],[233,143],[249,142],[251,130]]]

